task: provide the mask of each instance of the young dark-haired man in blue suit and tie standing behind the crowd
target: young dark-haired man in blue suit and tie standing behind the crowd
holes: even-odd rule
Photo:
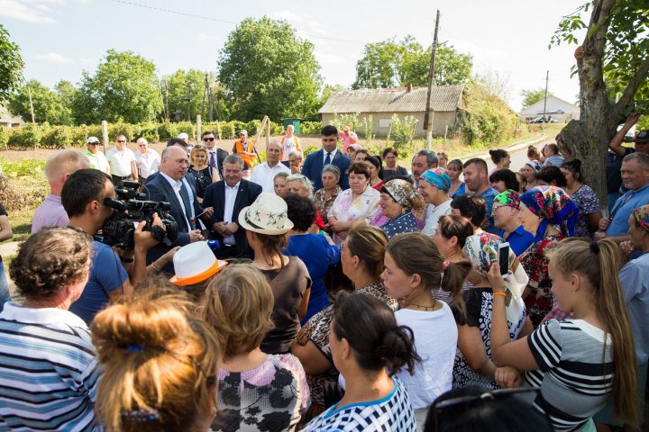
[[[349,189],[349,180],[347,179],[347,168],[349,168],[352,159],[346,157],[338,151],[338,130],[333,125],[324,126],[320,131],[323,148],[306,157],[302,166],[302,174],[311,180],[314,190],[317,191],[322,185],[322,168],[327,164],[338,166],[341,170],[340,186],[343,189]]]

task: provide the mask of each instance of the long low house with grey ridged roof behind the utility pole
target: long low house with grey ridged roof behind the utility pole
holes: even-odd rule
[[[442,136],[447,127],[456,125],[458,113],[464,108],[464,85],[434,85],[430,98],[429,121],[433,134]],[[415,136],[424,137],[424,113],[428,87],[372,88],[345,90],[329,96],[320,108],[323,124],[331,124],[335,114],[358,113],[362,119],[372,116],[372,130],[379,137],[388,134],[393,114],[403,119],[417,119]],[[361,126],[361,132],[362,126]]]

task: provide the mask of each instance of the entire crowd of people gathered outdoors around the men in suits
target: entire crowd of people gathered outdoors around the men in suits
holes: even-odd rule
[[[288,126],[263,162],[246,130],[231,154],[210,130],[160,155],[123,135],[60,150],[10,266],[24,300],[0,292],[0,430],[638,430],[635,121],[611,139],[608,206],[556,144],[518,171],[505,149],[490,171],[424,149],[408,172],[334,126],[307,155]],[[109,247],[93,236],[124,181],[169,211]]]

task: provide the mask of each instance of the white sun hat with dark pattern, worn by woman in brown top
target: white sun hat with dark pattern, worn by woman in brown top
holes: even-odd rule
[[[284,234],[293,228],[287,210],[286,202],[275,193],[260,193],[252,205],[242,208],[239,225],[260,234]]]

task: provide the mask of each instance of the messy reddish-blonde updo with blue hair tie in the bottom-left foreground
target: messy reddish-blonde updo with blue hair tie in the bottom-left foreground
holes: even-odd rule
[[[155,301],[152,301],[152,300]],[[190,318],[183,294],[139,293],[92,323],[102,379],[98,422],[108,432],[205,432],[216,414],[215,332]]]

